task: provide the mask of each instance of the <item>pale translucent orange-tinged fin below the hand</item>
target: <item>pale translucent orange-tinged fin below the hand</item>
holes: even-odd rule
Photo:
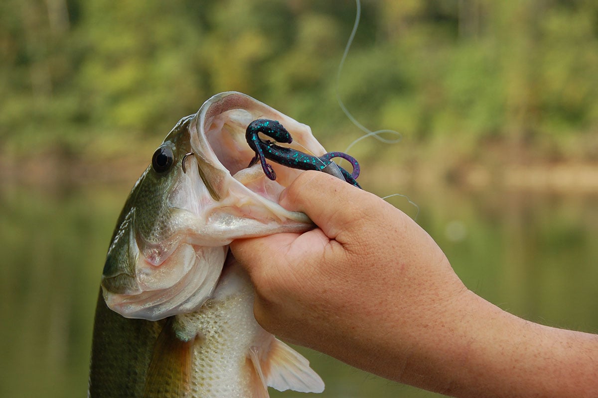
[[[269,352],[261,360],[254,347],[249,357],[264,384],[279,391],[294,390],[301,393],[321,393],[324,381],[309,367],[309,361],[297,351],[273,338]],[[267,396],[267,395],[266,395]]]

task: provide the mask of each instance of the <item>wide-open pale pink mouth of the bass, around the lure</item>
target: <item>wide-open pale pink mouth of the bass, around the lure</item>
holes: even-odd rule
[[[273,164],[277,176],[273,181],[266,177],[258,163],[248,167],[255,153],[246,141],[245,131],[256,119],[273,119],[282,123],[294,138],[288,147],[300,151],[308,150],[316,156],[326,152],[313,137],[309,126],[289,118],[248,95],[240,92],[223,92],[206,101],[197,113],[196,119],[191,122],[191,147],[200,170],[212,167],[226,169],[234,181],[246,187],[244,193],[253,200],[258,200],[260,205],[266,206],[275,214],[283,214],[291,220],[309,223],[309,219],[304,214],[287,212],[278,205],[280,192],[302,171]],[[194,129],[196,134],[193,134]],[[204,175],[202,178],[206,179]],[[234,181],[230,180],[228,181],[230,184],[222,184],[219,187],[215,182],[210,193],[215,194],[218,199],[226,196],[231,189],[231,184],[235,184]]]

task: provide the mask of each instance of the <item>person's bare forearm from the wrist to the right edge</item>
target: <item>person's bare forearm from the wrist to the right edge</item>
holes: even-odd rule
[[[469,291],[459,300],[387,377],[463,398],[598,396],[597,335],[527,322]]]

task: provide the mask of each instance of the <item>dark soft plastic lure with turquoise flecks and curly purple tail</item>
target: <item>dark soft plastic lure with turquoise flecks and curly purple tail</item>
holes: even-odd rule
[[[258,135],[259,132],[273,138],[274,141],[262,140]],[[276,180],[276,173],[272,166],[266,162],[266,159],[295,169],[324,171],[361,188],[356,181],[359,176],[359,163],[353,156],[343,152],[328,152],[322,156],[315,156],[289,147],[279,146],[276,143],[290,144],[293,139],[291,134],[278,121],[257,119],[251,122],[245,132],[245,138],[249,147],[255,152],[249,166],[259,161],[264,174],[270,180]],[[346,169],[336,165],[332,162],[334,158],[343,158],[349,161],[353,165],[353,171],[349,173]]]

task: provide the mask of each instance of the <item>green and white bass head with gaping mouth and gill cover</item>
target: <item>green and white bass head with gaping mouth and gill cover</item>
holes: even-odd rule
[[[102,273],[108,307],[125,317],[158,320],[199,309],[212,295],[233,239],[304,232],[307,216],[279,205],[302,171],[273,164],[276,181],[246,142],[259,118],[279,121],[290,146],[317,156],[309,127],[239,92],[216,94],[182,118],[152,156],[127,199]]]

